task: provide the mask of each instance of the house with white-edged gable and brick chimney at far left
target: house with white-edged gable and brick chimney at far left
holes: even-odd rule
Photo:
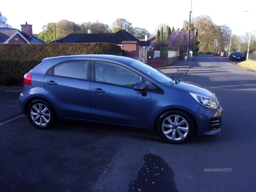
[[[0,27],[0,44],[46,44],[41,39],[33,36],[32,25],[27,22],[21,25],[21,31]]]

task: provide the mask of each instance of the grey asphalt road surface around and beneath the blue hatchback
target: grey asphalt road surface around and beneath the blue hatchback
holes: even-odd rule
[[[220,134],[182,145],[154,131],[79,122],[39,130],[26,116],[0,125],[0,191],[254,192],[256,72],[237,63],[200,55],[161,69],[209,88],[224,109]],[[18,95],[0,92],[0,123],[20,115]]]

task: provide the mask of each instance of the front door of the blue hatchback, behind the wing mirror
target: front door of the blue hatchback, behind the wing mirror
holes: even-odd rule
[[[95,61],[90,85],[91,120],[148,126],[151,94],[133,89],[142,76],[119,64]]]

